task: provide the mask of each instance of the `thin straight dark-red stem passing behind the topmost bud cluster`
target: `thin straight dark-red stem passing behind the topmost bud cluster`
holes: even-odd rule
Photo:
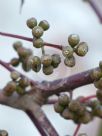
[[[33,38],[28,38],[28,37],[21,36],[21,35],[15,35],[15,34],[10,34],[10,33],[3,33],[3,32],[0,32],[0,35],[7,36],[7,37],[12,37],[12,38],[17,38],[17,39],[21,39],[21,40],[25,40],[25,41],[29,41],[29,42],[33,42]],[[51,44],[51,43],[47,43],[47,42],[45,42],[44,44],[45,44],[45,46],[53,47],[53,48],[62,50],[61,45]]]

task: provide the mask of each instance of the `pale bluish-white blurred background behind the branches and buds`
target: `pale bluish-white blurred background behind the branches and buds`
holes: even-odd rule
[[[97,1],[98,2],[98,1]],[[68,35],[75,33],[80,36],[81,41],[89,45],[89,52],[85,57],[76,56],[76,66],[67,68],[62,64],[50,76],[45,76],[42,72],[24,73],[37,81],[54,80],[70,76],[72,74],[98,66],[102,59],[102,24],[90,4],[83,0],[25,0],[22,13],[19,13],[20,0],[0,0],[0,31],[12,34],[32,37],[31,31],[26,26],[26,20],[30,17],[37,18],[38,21],[47,20],[50,29],[43,39],[49,43],[68,45]],[[0,36],[0,59],[9,61],[17,54],[12,48],[14,38]],[[34,54],[41,54],[39,49],[34,49],[32,43],[22,41],[25,47],[33,49]],[[60,51],[46,48],[46,52],[61,54]],[[62,57],[63,59],[63,57]],[[10,80],[9,72],[0,66],[0,88]],[[95,93],[93,85],[88,85],[76,89],[74,97],[79,95],[90,95]],[[62,119],[54,112],[53,106],[43,106],[43,110],[49,120],[56,127],[59,136],[66,134],[73,135],[76,125],[71,121]],[[87,133],[88,136],[98,136],[100,120],[94,119],[88,125],[82,125],[80,133]],[[6,106],[0,105],[0,129],[6,129],[9,136],[40,136],[36,128],[25,113]],[[102,136],[102,135],[100,135]]]

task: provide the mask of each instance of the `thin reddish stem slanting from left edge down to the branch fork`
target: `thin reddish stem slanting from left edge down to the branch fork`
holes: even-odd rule
[[[10,67],[10,65],[9,65],[9,63],[6,63],[6,62],[4,62],[4,61],[2,61],[2,60],[0,60],[0,64],[4,67],[4,68],[6,68],[8,71],[10,71],[10,72],[12,72],[12,71],[17,71],[17,70],[15,70],[15,69],[13,69],[12,67]],[[18,72],[18,71],[17,71]],[[20,73],[20,72],[18,72],[18,73]],[[20,75],[22,76],[22,77],[25,77],[25,75],[23,75],[23,74],[21,74],[20,73]],[[27,77],[28,78],[28,77]],[[29,79],[29,78],[28,78]],[[37,84],[37,82],[34,82],[33,80],[31,80],[31,79],[29,79],[29,81],[31,82],[31,85],[35,85],[35,84]]]

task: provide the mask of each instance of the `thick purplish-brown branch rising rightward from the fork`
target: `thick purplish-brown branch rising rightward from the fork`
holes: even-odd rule
[[[42,82],[37,84],[36,87],[42,90],[42,92],[45,92],[47,96],[59,94],[61,92],[70,92],[75,88],[93,83],[94,80],[91,78],[90,73],[94,69],[81,72],[67,78],[54,80],[52,82]]]

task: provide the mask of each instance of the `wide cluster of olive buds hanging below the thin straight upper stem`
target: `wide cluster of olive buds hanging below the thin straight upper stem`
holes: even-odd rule
[[[41,58],[33,56],[32,51],[23,47],[22,43],[19,41],[15,42],[13,47],[19,58],[13,58],[10,64],[16,67],[21,63],[23,70],[26,72],[30,70],[39,72],[42,67],[43,73],[45,75],[50,75],[53,73],[54,68],[57,68],[61,63],[61,57],[58,54],[43,54]]]

